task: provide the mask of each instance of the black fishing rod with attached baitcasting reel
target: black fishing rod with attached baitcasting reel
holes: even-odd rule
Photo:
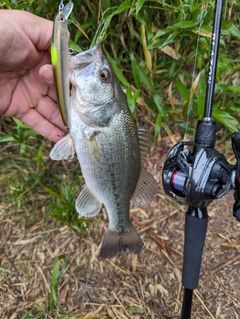
[[[207,206],[235,189],[233,215],[240,221],[240,132],[232,135],[236,164],[214,149],[216,123],[212,118],[218,62],[223,0],[216,0],[204,116],[197,123],[194,142],[180,142],[169,152],[163,167],[165,192],[180,204],[187,204],[182,285],[181,319],[191,318],[193,291],[198,286],[203,247],[207,232]]]

